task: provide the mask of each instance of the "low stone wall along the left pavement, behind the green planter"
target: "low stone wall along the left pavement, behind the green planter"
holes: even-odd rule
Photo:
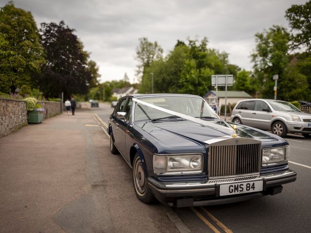
[[[60,114],[60,102],[38,101],[46,109],[44,118]],[[6,136],[28,124],[26,103],[23,100],[0,99],[0,137]]]

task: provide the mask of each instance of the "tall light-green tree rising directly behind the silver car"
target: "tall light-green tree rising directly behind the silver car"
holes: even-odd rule
[[[282,83],[283,73],[289,62],[289,33],[285,28],[273,26],[268,31],[264,30],[263,33],[257,33],[255,36],[257,45],[251,54],[254,75],[261,86],[261,96],[273,99],[272,76],[278,74],[278,83]]]

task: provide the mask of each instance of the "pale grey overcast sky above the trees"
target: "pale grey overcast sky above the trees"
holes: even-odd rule
[[[8,1],[0,0],[0,6]],[[99,66],[101,82],[136,81],[138,38],[157,41],[164,54],[177,39],[202,39],[229,53],[229,62],[250,70],[255,33],[288,27],[285,11],[306,0],[14,0],[37,26],[64,20]],[[135,80],[134,80],[135,79]]]

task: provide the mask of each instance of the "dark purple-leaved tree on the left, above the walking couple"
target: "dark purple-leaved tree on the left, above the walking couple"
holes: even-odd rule
[[[37,83],[46,98],[59,97],[61,92],[64,92],[65,98],[73,94],[87,94],[89,86],[96,83],[96,65],[87,61],[88,53],[73,32],[74,29],[66,26],[64,21],[41,24],[40,34],[47,64],[37,77]]]

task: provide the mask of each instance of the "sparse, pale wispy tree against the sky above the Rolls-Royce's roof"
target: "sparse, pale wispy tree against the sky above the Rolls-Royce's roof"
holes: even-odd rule
[[[138,66],[136,74],[137,76],[143,75],[147,67],[151,66],[151,63],[155,60],[161,59],[163,49],[157,44],[148,41],[146,37],[139,38],[139,45],[136,48],[136,60],[138,60]]]

